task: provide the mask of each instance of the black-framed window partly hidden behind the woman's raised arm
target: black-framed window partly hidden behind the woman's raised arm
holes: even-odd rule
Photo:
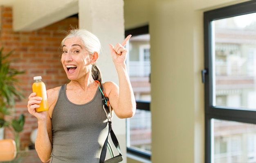
[[[137,101],[134,117],[127,119],[127,150],[150,158],[151,113],[150,113],[150,35],[148,26],[126,30],[132,34],[126,48],[129,49],[127,67],[132,89]]]

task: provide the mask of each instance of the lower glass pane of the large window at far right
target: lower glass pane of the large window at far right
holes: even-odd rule
[[[256,163],[256,125],[234,121],[211,121],[212,163]]]

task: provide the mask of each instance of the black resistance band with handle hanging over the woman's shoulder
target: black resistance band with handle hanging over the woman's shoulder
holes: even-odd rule
[[[102,151],[101,151],[101,156],[100,156],[100,159],[99,159],[99,163],[119,163],[119,162],[123,161],[123,156],[121,154],[121,150],[120,150],[119,143],[117,141],[117,137],[116,137],[114,131],[112,130],[111,106],[109,104],[108,97],[106,96],[106,93],[105,93],[105,91],[103,89],[103,86],[101,84],[101,81],[98,81],[98,80],[95,80],[95,81],[98,83],[99,89],[101,91],[102,101],[103,101],[103,110],[105,111],[106,116],[108,118],[108,135],[109,134],[111,135],[112,142],[114,143],[115,147],[117,148],[117,150],[119,152],[118,156],[115,156],[115,157],[105,161],[107,146],[108,146],[108,136],[107,136],[107,138],[105,140],[105,143],[103,145]]]

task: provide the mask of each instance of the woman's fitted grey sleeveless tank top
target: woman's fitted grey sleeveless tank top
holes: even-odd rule
[[[52,134],[49,163],[99,163],[108,135],[99,88],[90,102],[74,104],[62,85],[52,113]]]

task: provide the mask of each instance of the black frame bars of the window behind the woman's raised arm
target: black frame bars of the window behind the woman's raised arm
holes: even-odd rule
[[[145,25],[145,26],[140,26],[137,28],[125,30],[125,37],[127,37],[128,35],[137,36],[137,35],[143,35],[143,34],[148,34],[148,33],[149,33],[149,26]],[[137,100],[136,103],[137,103],[137,109],[150,111],[150,102]],[[128,153],[132,153],[137,156],[144,157],[146,159],[151,158],[151,154],[148,154],[146,152],[141,152],[139,150],[136,150],[134,148],[129,148],[129,147],[127,147],[126,149],[127,149]]]

